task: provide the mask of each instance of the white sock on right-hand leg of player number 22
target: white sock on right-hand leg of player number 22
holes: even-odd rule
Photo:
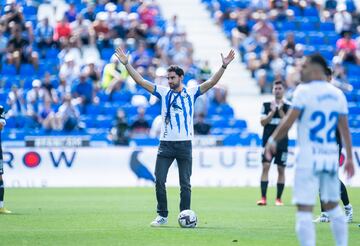
[[[337,205],[335,208],[327,211],[330,218],[331,230],[337,246],[346,246],[348,244],[348,225],[343,210]]]

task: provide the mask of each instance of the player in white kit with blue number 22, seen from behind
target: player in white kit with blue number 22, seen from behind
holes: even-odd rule
[[[336,245],[348,243],[348,227],[343,210],[338,205],[338,127],[346,149],[344,170],[354,175],[348,107],[344,94],[326,81],[325,59],[318,54],[306,57],[300,84],[294,92],[292,108],[269,138],[265,147],[267,158],[276,151],[277,142],[298,120],[299,153],[295,167],[293,202],[297,206],[296,233],[301,245],[315,246],[315,226],[312,211],[320,190],[321,201],[329,214]]]

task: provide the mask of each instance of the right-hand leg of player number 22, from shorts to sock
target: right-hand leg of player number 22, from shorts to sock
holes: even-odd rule
[[[348,226],[346,217],[338,204],[340,200],[339,178],[336,174],[323,173],[320,178],[320,194],[324,209],[330,218],[330,224],[336,245],[348,243]]]

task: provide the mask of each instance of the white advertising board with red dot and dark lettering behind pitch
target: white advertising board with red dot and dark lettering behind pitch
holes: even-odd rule
[[[259,147],[193,149],[193,186],[258,186],[261,172]],[[290,149],[287,179],[293,182],[296,149]],[[156,147],[128,148],[8,148],[4,152],[4,178],[8,187],[122,187],[152,186]],[[342,180],[360,186],[360,148],[354,149],[356,176]],[[276,184],[271,169],[270,184]],[[343,172],[340,171],[342,176]],[[169,186],[178,185],[174,163]]]

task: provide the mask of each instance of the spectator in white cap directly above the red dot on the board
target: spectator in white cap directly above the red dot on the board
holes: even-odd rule
[[[41,81],[35,79],[32,82],[32,89],[26,94],[27,116],[30,117],[30,128],[39,127],[39,113],[41,112],[45,101],[45,91],[41,88]]]

